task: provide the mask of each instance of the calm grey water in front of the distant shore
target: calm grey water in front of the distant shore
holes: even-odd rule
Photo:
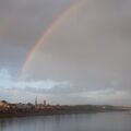
[[[0,119],[0,131],[131,131],[131,114],[98,112]]]

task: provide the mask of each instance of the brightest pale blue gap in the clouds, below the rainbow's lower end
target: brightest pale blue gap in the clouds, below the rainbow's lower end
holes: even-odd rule
[[[32,93],[51,93],[53,88],[70,87],[68,82],[57,82],[52,80],[21,80],[19,76],[11,75],[8,69],[0,70],[0,87],[3,90],[17,90]]]

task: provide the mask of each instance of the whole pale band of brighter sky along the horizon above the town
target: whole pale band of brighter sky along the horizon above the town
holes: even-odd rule
[[[122,90],[75,87],[68,81],[53,80],[21,80],[13,76],[8,69],[0,70],[0,96],[11,102],[34,102],[38,96],[39,102],[46,98],[52,104],[106,104],[112,99],[129,97],[129,93]],[[63,99],[61,99],[63,98]],[[78,99],[78,100],[76,100]]]

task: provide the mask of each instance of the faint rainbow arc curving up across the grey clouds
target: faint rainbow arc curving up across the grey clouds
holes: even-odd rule
[[[24,61],[24,64],[21,69],[20,75],[23,74],[23,72],[26,70],[27,64],[32,61],[32,59],[35,56],[35,52],[38,50],[40,45],[43,45],[46,39],[49,37],[49,35],[55,31],[59,25],[67,20],[74,11],[76,11],[81,4],[83,4],[85,0],[79,0],[70,4],[70,7],[66,10],[62,11],[60,15],[58,15],[49,25],[48,27],[44,31],[41,36],[36,40],[35,45],[32,47],[32,49],[28,51],[26,59]]]

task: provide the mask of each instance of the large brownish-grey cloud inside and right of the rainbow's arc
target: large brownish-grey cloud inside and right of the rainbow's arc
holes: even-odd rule
[[[70,81],[72,93],[131,93],[130,4],[129,0],[85,1],[51,33],[23,75]]]

